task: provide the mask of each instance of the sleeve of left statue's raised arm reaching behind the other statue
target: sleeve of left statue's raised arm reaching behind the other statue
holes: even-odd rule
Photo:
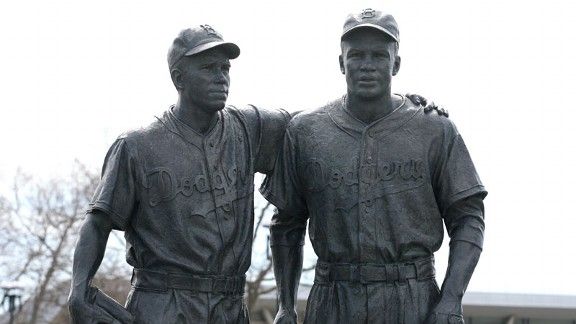
[[[268,174],[274,169],[274,162],[280,147],[290,114],[283,109],[254,108],[257,139],[255,145],[256,172]]]

